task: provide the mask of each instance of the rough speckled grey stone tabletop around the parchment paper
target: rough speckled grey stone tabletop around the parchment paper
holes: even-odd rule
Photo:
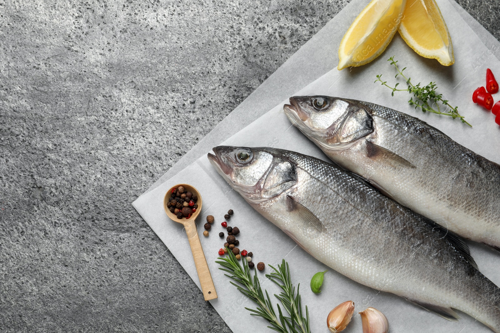
[[[347,2],[0,0],[0,331],[230,332],[130,203]]]

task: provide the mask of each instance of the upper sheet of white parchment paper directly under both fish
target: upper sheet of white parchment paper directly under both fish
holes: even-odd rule
[[[474,105],[470,96],[477,86],[484,84],[485,69],[489,67],[495,73],[500,72],[500,63],[493,55],[483,56],[489,54],[490,51],[447,0],[437,2],[453,40],[454,65],[443,67],[435,60],[418,56],[396,34],[387,50],[372,63],[353,68],[351,71],[333,69],[296,94],[326,94],[362,99],[419,116],[458,143],[499,163],[499,128],[494,123],[493,115]],[[345,31],[347,26],[339,26],[338,30]],[[474,127],[468,128],[459,121],[453,121],[444,116],[415,111],[406,103],[409,98],[407,93],[401,92],[390,97],[390,90],[374,84],[375,75],[380,73],[384,74],[388,83],[394,82],[392,79],[395,74],[394,69],[386,62],[390,55],[395,55],[401,65],[408,67],[407,74],[413,81],[422,83],[428,83],[430,80],[437,81],[439,91],[449,98],[453,105],[459,106],[460,113]],[[293,68],[290,68],[291,70]],[[497,98],[497,96],[494,97]],[[327,160],[314,144],[290,125],[282,111],[281,103],[222,144],[273,146]],[[328,312],[334,306],[347,300],[354,301],[356,311],[362,311],[368,306],[382,311],[389,320],[391,332],[395,333],[422,330],[456,333],[462,330],[490,332],[482,324],[474,323],[474,319],[467,315],[463,315],[458,323],[448,322],[396,296],[361,286],[331,270],[325,275],[323,292],[319,295],[312,294],[308,286],[311,276],[315,272],[328,268],[306,254],[288,236],[253,211],[237,193],[231,190],[204,156],[133,203],[196,284],[198,284],[198,279],[182,227],[168,220],[162,207],[162,198],[166,190],[171,185],[181,182],[195,186],[203,196],[203,211],[197,222],[201,243],[218,294],[218,299],[210,302],[233,332],[267,332],[265,329],[267,323],[249,316],[244,307],[254,307],[254,305],[229,285],[228,279],[217,270],[218,267],[214,263],[218,256],[217,251],[223,244],[223,240],[217,235],[219,231],[224,231],[220,227],[220,222],[223,221],[223,214],[228,209],[233,209],[235,212],[229,225],[237,226],[241,230],[238,236],[239,248],[252,251],[255,263],[263,261],[267,265],[275,265],[282,258],[288,261],[293,282],[301,284],[302,301],[309,307],[313,332],[325,332],[325,319]],[[212,226],[210,236],[204,238],[201,235],[202,225],[204,216],[209,214],[215,216],[216,223]],[[471,252],[481,272],[500,285],[500,265],[498,265],[500,256],[477,244],[471,244]],[[270,272],[268,267],[266,272]],[[271,293],[277,292],[263,274],[260,274],[260,279],[263,288]],[[354,318],[353,323],[345,332],[361,332],[358,317]]]

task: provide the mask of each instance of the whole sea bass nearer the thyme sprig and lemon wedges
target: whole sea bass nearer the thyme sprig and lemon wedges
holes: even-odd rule
[[[295,96],[283,109],[336,164],[453,233],[500,250],[500,165],[384,106]]]

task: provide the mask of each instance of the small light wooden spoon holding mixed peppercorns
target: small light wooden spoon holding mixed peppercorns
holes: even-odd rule
[[[196,196],[198,197],[198,200],[196,201],[196,204],[198,204],[198,208],[196,208],[196,211],[188,219],[177,219],[177,216],[171,213],[166,206],[171,197],[171,190],[173,188],[178,188],[179,186],[184,187],[185,192],[191,192],[192,194],[196,194]],[[187,239],[189,240],[189,246],[191,247],[192,257],[194,258],[194,265],[196,266],[196,271],[198,272],[201,292],[203,293],[205,301],[216,299],[217,293],[215,292],[215,286],[213,286],[212,277],[210,275],[210,271],[208,270],[208,265],[206,264],[205,255],[203,253],[203,249],[201,248],[201,243],[199,242],[198,233],[196,232],[196,223],[194,222],[199,212],[201,212],[201,196],[199,195],[199,192],[194,187],[188,184],[177,184],[175,186],[172,186],[170,190],[166,192],[165,197],[163,198],[163,208],[165,209],[166,216],[168,216],[170,220],[180,223],[184,226]]]

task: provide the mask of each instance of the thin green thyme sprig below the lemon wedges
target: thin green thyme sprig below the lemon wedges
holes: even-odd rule
[[[413,97],[415,97],[414,100],[413,100],[413,97],[410,97],[410,99],[408,101],[409,105],[415,105],[415,109],[420,108],[422,110],[422,112],[428,111],[428,112],[432,112],[435,114],[442,114],[445,116],[450,116],[453,119],[459,118],[462,123],[465,123],[465,124],[469,125],[470,127],[472,127],[472,125],[470,125],[467,121],[465,121],[464,117],[458,113],[458,106],[455,106],[455,107],[451,106],[448,103],[447,99],[442,98],[442,94],[437,93],[437,91],[436,91],[437,85],[435,82],[430,82],[429,84],[427,84],[425,86],[421,86],[420,83],[412,84],[411,78],[406,77],[403,74],[403,71],[406,69],[406,67],[404,67],[403,69],[399,69],[399,66],[397,65],[397,60],[394,60],[394,56],[391,56],[389,59],[387,59],[387,61],[390,61],[390,64],[394,65],[394,67],[396,67],[397,74],[396,74],[395,78],[397,78],[398,75],[401,75],[406,80],[406,84],[408,85],[408,87],[406,89],[397,89],[397,86],[399,85],[399,83],[396,83],[394,85],[394,87],[391,87],[387,84],[387,81],[382,81],[382,74],[377,75],[376,80],[374,82],[379,81],[381,85],[384,85],[387,88],[391,89],[392,96],[394,96],[394,91],[407,91],[409,94],[413,94]],[[446,109],[444,111],[441,111],[439,103],[441,103],[442,105],[444,105],[446,107]],[[434,105],[435,105],[436,109],[434,109],[432,107]],[[448,107],[449,107],[449,111],[448,111]]]

